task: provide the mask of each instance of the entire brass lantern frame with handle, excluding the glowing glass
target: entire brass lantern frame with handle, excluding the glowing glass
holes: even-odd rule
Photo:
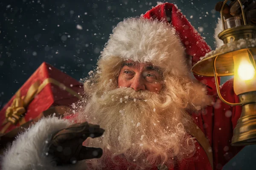
[[[224,1],[223,6],[226,2],[227,0]],[[192,66],[192,72],[195,75],[215,77],[216,88],[221,101],[231,106],[241,105],[241,117],[233,131],[231,142],[233,146],[256,144],[256,84],[253,90],[247,90],[241,94],[237,94],[240,103],[235,104],[225,101],[224,98],[222,98],[218,84],[218,76],[234,75],[236,70],[234,69],[235,64],[233,57],[239,56],[241,53],[247,54],[250,58],[250,63],[253,65],[254,70],[256,70],[256,27],[247,26],[243,10],[242,13],[244,26],[237,26],[226,30],[224,28],[224,31],[218,35],[218,37],[223,40],[224,45],[209,52],[204,58],[201,58],[201,61]],[[224,24],[222,11],[221,18]],[[256,80],[253,80],[253,82],[255,81]],[[236,88],[239,88],[238,85],[236,86]],[[254,86],[254,84],[250,86]]]

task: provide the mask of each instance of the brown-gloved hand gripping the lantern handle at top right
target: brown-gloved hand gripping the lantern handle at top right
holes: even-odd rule
[[[232,16],[239,16],[242,18],[242,12],[241,12],[241,6],[238,2],[238,0],[231,0],[232,2],[227,5],[224,5],[223,8],[223,15],[224,18],[227,19]],[[216,3],[215,5],[215,10],[220,12],[221,11],[221,6],[222,6],[222,1]],[[243,9],[244,9],[244,14],[245,18],[247,21],[248,25],[254,25],[256,26],[256,1],[255,0],[241,0]]]

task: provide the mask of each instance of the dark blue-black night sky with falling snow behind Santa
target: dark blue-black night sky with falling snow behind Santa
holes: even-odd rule
[[[80,80],[96,66],[114,26],[158,0],[0,0],[0,109],[42,62]],[[215,49],[218,0],[169,0]],[[247,146],[226,170],[256,169]]]

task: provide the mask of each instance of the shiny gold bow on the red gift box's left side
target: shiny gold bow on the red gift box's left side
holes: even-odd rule
[[[3,122],[2,126],[7,124],[8,122],[12,124],[17,124],[17,121],[20,119],[20,116],[26,113],[26,107],[29,103],[34,99],[37,94],[38,87],[40,86],[40,82],[36,81],[32,86],[29,87],[25,96],[20,96],[20,90],[18,90],[15,94],[15,98],[12,101],[11,106],[6,109],[6,119]]]

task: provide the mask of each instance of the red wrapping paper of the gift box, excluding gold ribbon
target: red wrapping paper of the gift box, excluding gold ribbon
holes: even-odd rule
[[[53,78],[76,92],[83,92],[83,88],[78,81],[56,69],[55,67],[49,65],[48,63],[42,63],[41,66],[39,66],[38,69],[31,75],[31,77],[23,84],[23,86],[20,87],[21,96],[26,95],[29,87],[36,81],[39,80],[40,83],[42,83],[47,78]],[[2,122],[5,120],[6,109],[12,104],[14,98],[15,96],[13,96],[0,111],[0,124],[2,124]],[[25,115],[25,120],[29,121],[36,118],[41,112],[49,109],[51,106],[69,106],[77,100],[77,97],[71,95],[64,89],[61,89],[59,86],[54,84],[47,84],[44,89],[35,96],[34,100],[26,108],[27,112]],[[10,126],[6,130],[6,133],[18,126],[20,126],[19,123]],[[0,126],[0,129],[3,127],[4,126]]]

